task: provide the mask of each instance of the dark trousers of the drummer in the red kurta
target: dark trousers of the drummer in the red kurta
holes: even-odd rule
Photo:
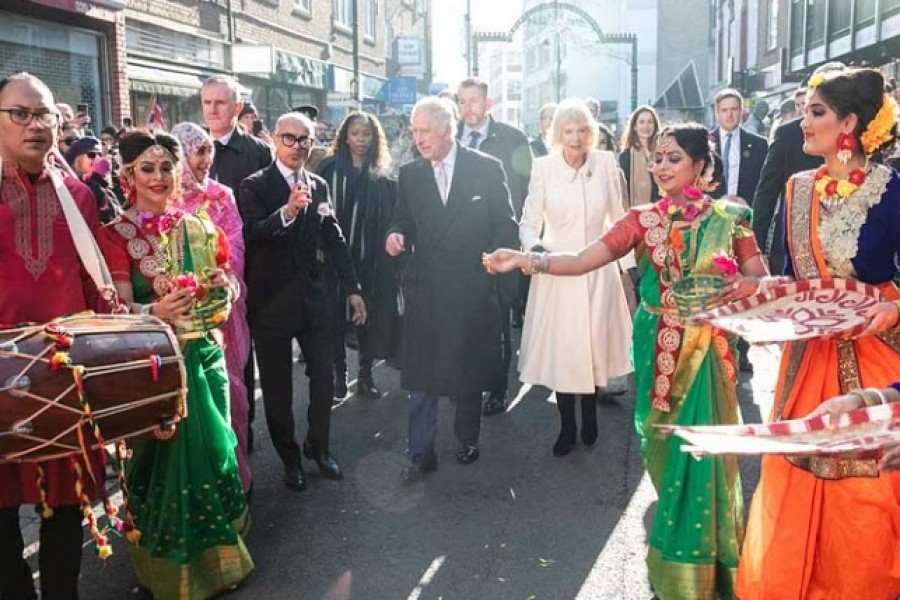
[[[82,514],[77,506],[61,506],[41,519],[38,565],[42,600],[78,600],[81,570]],[[19,509],[0,508],[0,600],[36,600],[31,569],[22,558],[25,543]]]

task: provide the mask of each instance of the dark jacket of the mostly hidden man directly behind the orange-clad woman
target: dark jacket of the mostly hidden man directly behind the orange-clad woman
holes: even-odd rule
[[[821,157],[803,151],[801,121],[800,118],[788,121],[775,130],[753,196],[753,233],[756,243],[769,257],[769,268],[776,274],[784,269],[784,186],[794,173],[817,169],[822,164]],[[767,243],[770,234],[771,245]]]

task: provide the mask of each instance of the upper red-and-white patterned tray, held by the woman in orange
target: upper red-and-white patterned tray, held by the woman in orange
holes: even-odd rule
[[[878,288],[852,279],[807,279],[698,313],[693,319],[740,335],[752,344],[788,342],[865,329]]]

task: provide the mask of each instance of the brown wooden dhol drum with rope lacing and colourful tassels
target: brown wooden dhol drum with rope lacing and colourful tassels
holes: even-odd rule
[[[154,317],[83,313],[0,331],[0,461],[35,462],[187,416],[184,358]]]

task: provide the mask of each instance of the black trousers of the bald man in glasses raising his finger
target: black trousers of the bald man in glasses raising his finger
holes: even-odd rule
[[[306,319],[304,319],[306,321]],[[333,331],[314,326],[296,331],[254,328],[256,362],[262,387],[266,424],[275,451],[286,466],[300,465],[300,447],[294,437],[293,353],[291,343],[297,340],[306,359],[309,377],[309,429],[306,441],[317,453],[327,452],[331,426],[331,400],[334,397]]]

